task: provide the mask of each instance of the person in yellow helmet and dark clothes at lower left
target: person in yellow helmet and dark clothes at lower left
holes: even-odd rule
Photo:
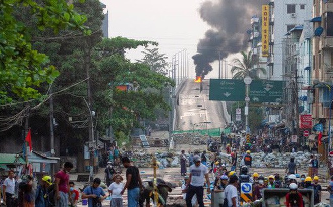
[[[51,176],[42,177],[40,184],[37,186],[35,195],[35,206],[47,206],[47,188],[52,185]]]

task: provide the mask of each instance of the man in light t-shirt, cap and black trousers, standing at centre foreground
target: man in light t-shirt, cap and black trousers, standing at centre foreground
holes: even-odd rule
[[[197,155],[193,156],[194,165],[190,166],[190,175],[186,183],[186,205],[192,207],[192,197],[197,196],[197,201],[200,207],[203,205],[203,186],[205,179],[207,183],[207,193],[210,193],[210,181],[208,176],[207,166],[201,164],[201,158]]]

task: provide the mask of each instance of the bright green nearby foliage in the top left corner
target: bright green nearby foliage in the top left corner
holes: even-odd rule
[[[19,20],[14,11],[29,8],[35,24]],[[42,83],[51,83],[59,75],[50,65],[49,58],[31,44],[33,27],[40,31],[49,28],[54,33],[62,29],[85,30],[86,17],[74,11],[65,0],[9,0],[0,2],[0,103],[11,102],[19,97],[24,100],[41,97],[36,89]],[[85,30],[89,33],[88,30]]]

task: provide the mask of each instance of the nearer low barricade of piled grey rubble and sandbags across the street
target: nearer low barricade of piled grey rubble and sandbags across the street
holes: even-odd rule
[[[193,153],[200,154],[202,150],[196,149],[192,150]],[[138,167],[151,167],[151,159],[153,155],[156,156],[160,168],[167,168],[167,167],[180,167],[180,153],[176,151],[162,151],[157,150],[154,154],[147,153],[144,150],[136,151],[132,154],[131,159]],[[189,157],[189,154],[186,152],[186,157]],[[295,162],[298,168],[308,167],[308,162],[310,160],[310,152],[303,152],[298,151],[295,153],[279,153],[279,152],[272,152],[269,154],[265,154],[264,152],[259,153],[251,153],[252,156],[252,167],[255,168],[286,168],[290,158],[294,157]],[[216,156],[216,153],[207,152],[207,163],[210,163]],[[317,154],[319,158],[319,155]],[[224,163],[227,167],[230,167],[231,164],[231,157],[226,153],[219,153],[218,158],[221,163]],[[238,162],[240,160],[238,159]]]

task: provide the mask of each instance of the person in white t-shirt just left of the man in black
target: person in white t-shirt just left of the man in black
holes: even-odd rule
[[[113,181],[114,182],[108,187],[108,193],[112,198],[110,207],[123,207],[123,196],[121,194],[124,188],[124,184],[122,183],[123,177],[116,174]]]

